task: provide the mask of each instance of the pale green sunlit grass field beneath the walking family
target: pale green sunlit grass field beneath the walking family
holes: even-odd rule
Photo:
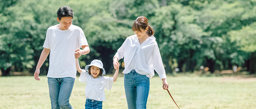
[[[124,78],[118,75],[105,90],[103,109],[127,109]],[[112,76],[110,76],[112,77]],[[0,77],[0,109],[50,109],[46,76]],[[256,78],[168,76],[169,91],[181,109],[256,109]],[[150,79],[147,109],[178,109],[162,82]],[[75,80],[70,97],[74,109],[84,109],[86,83]]]

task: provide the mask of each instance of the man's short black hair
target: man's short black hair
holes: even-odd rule
[[[59,20],[62,17],[72,17],[74,16],[73,10],[69,6],[62,6],[59,7],[59,10],[57,11],[57,16]]]

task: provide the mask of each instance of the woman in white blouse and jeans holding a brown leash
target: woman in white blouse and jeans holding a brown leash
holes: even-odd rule
[[[154,70],[168,89],[165,69],[162,64],[154,31],[148,25],[146,17],[138,17],[132,26],[135,35],[126,38],[123,45],[117,50],[113,64],[124,58],[125,69],[124,85],[125,95],[129,109],[146,109],[147,97],[150,89],[150,78]]]

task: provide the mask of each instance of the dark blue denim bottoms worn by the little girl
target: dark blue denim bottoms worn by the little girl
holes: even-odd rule
[[[86,99],[85,109],[102,109],[102,101]]]

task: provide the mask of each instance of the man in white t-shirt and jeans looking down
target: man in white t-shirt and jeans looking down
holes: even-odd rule
[[[40,68],[50,53],[47,78],[52,109],[73,109],[69,98],[76,79],[75,58],[90,52],[83,30],[72,25],[73,16],[69,6],[59,8],[59,24],[48,28],[44,49],[34,73],[34,78],[40,80]]]

